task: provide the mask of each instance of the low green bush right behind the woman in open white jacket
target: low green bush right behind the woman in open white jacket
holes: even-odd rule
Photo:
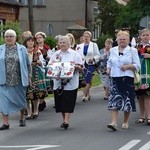
[[[112,36],[109,35],[109,34],[106,34],[106,35],[100,36],[100,37],[97,39],[97,42],[96,42],[96,43],[97,43],[99,49],[102,49],[102,48],[104,47],[105,41],[106,41],[107,38],[112,38]]]

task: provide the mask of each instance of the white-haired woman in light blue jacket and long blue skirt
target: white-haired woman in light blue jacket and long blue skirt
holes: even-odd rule
[[[27,49],[16,43],[16,32],[7,30],[6,44],[0,46],[0,112],[3,125],[0,130],[9,129],[9,115],[21,110],[20,126],[25,126],[26,87],[31,74]]]

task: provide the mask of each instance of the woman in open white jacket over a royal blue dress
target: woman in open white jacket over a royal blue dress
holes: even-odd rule
[[[90,100],[90,87],[92,84],[92,77],[95,71],[94,58],[100,57],[99,49],[96,43],[91,42],[92,34],[89,31],[83,33],[84,42],[78,45],[77,52],[82,56],[84,62],[84,76],[86,80],[86,86],[83,91],[83,102]]]

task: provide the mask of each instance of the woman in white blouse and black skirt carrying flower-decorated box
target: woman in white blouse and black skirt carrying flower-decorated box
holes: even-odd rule
[[[70,40],[68,36],[59,38],[60,50],[56,51],[51,57],[49,64],[60,61],[73,62],[75,64],[75,72],[69,80],[60,78],[54,79],[54,99],[56,112],[61,112],[63,123],[61,127],[67,129],[69,126],[70,113],[74,112],[77,98],[77,89],[79,86],[79,71],[82,71],[82,59],[79,53],[70,48]]]

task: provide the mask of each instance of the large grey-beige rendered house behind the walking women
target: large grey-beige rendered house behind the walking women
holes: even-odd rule
[[[19,20],[25,31],[29,30],[28,0],[20,2],[24,7],[20,10]],[[93,31],[98,37],[100,27],[93,29],[98,12],[98,0],[33,0],[35,32],[43,31],[47,35],[64,35],[68,27],[78,24]]]

